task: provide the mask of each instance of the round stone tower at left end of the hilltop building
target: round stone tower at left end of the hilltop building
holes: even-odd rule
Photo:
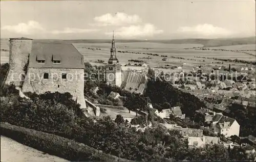
[[[5,78],[5,84],[22,86],[26,76],[26,66],[29,63],[29,53],[31,53],[32,39],[10,38],[9,70]]]

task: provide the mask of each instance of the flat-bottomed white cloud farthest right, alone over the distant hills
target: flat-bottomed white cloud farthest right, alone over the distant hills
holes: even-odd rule
[[[186,33],[186,34],[196,34],[203,37],[209,37],[209,36],[228,36],[231,35],[232,32],[228,31],[224,28],[220,28],[218,26],[214,26],[212,24],[198,24],[196,26],[183,26],[178,29],[178,32],[180,33]]]

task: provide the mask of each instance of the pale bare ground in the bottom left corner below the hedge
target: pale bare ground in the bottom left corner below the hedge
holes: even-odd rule
[[[68,161],[1,136],[1,161]]]

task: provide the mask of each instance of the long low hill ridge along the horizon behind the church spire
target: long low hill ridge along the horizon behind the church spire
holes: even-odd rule
[[[110,40],[63,40],[69,43],[110,43]],[[154,43],[165,43],[165,44],[203,44],[204,47],[215,47],[215,46],[228,46],[228,45],[241,45],[241,44],[255,44],[255,37],[246,38],[220,38],[220,39],[173,39],[173,40],[125,40],[117,39],[119,43],[131,43],[131,42],[154,42]]]

